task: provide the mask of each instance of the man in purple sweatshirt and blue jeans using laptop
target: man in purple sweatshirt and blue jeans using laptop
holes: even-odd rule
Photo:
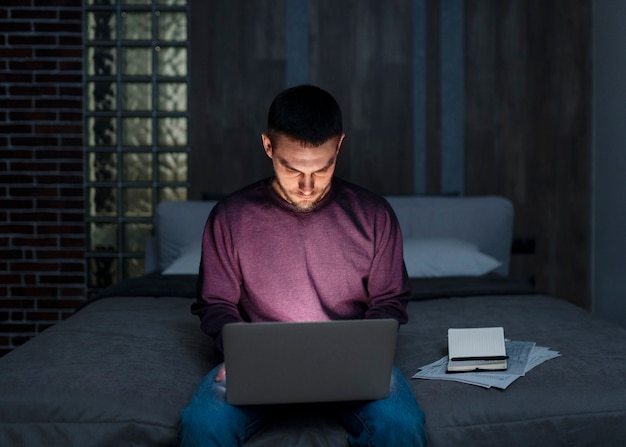
[[[207,221],[192,312],[222,348],[222,327],[241,321],[394,318],[406,323],[410,293],[402,236],[388,203],[333,177],[345,134],[326,91],[278,94],[261,135],[274,177],[218,203]],[[183,446],[235,446],[271,408],[229,405],[224,365],[181,412]],[[421,446],[424,415],[397,368],[386,399],[328,404],[352,446]]]

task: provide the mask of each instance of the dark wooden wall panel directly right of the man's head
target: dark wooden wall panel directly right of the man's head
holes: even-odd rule
[[[310,82],[342,106],[337,174],[381,194],[408,194],[412,172],[411,1],[310,2]]]

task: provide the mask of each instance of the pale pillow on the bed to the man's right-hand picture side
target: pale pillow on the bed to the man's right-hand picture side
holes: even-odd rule
[[[452,238],[404,239],[404,263],[411,278],[480,276],[502,263],[471,242]]]

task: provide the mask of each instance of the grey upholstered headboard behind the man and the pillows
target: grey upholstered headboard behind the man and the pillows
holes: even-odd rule
[[[470,242],[501,262],[507,275],[513,205],[499,196],[387,196],[407,238],[445,237]],[[146,273],[168,267],[189,246],[200,246],[215,201],[171,201],[157,206],[156,237],[146,248]]]

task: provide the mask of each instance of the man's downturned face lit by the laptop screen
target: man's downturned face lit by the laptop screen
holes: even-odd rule
[[[263,148],[274,166],[272,186],[278,195],[300,211],[315,208],[330,189],[344,136],[312,147],[284,135],[275,137],[272,144],[270,138],[262,134]]]

